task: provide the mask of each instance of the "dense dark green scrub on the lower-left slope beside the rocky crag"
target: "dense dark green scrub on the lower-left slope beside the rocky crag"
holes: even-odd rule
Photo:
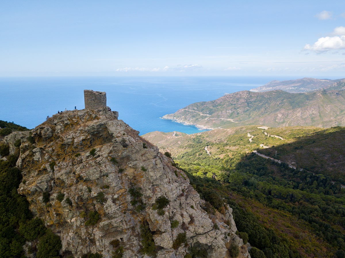
[[[0,160],[0,257],[24,258],[26,241],[33,241],[28,250],[37,252],[37,258],[58,257],[60,237],[47,229],[39,218],[32,218],[26,197],[17,192],[22,179],[21,171],[14,167],[17,154],[8,156],[7,161]]]

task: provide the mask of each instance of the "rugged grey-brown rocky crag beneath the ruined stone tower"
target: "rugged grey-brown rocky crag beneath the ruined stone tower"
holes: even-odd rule
[[[243,245],[231,208],[226,206],[225,216],[207,214],[184,172],[117,115],[108,108],[63,112],[32,130],[33,145],[22,140],[17,166],[25,184],[18,191],[27,196],[32,213],[60,236],[61,254],[80,258],[98,252],[111,258],[111,241],[118,240],[124,258],[148,257],[140,252],[140,225],[146,224],[157,257],[183,258],[191,246],[206,248],[208,257],[230,257],[229,243]],[[129,189],[140,194],[135,197]],[[157,210],[156,200],[163,196],[169,203]],[[90,223],[96,211],[99,219]],[[173,229],[172,221],[178,221]],[[174,249],[179,233],[187,240]],[[245,246],[240,252],[250,257]]]

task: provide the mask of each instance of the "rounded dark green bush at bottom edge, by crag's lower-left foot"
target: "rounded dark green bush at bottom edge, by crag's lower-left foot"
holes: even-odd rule
[[[37,258],[57,258],[61,247],[60,237],[47,229],[46,234],[39,238]]]

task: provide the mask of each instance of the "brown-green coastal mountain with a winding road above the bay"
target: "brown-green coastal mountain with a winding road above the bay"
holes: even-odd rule
[[[308,93],[240,91],[214,101],[190,104],[162,118],[201,128],[242,125],[345,126],[345,91],[336,82],[328,90]]]

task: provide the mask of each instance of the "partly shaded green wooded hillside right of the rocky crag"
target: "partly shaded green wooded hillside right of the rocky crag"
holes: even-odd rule
[[[152,132],[143,137],[161,152],[171,152],[214,208],[217,198],[225,198],[234,209],[238,230],[246,232],[265,257],[343,257],[345,137],[340,136],[345,128],[258,127],[185,136]],[[255,155],[254,150],[282,162]],[[269,240],[258,242],[264,236]],[[288,256],[283,255],[284,246],[292,252]]]

